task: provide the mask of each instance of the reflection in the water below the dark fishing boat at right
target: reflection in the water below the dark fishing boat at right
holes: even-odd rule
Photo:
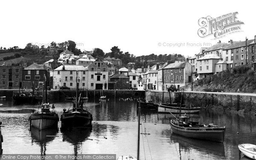
[[[206,156],[211,154],[218,159],[225,159],[225,148],[223,143],[194,140],[191,138],[181,137],[176,134],[171,134],[171,142],[179,144],[179,151],[185,151],[186,155],[192,152],[201,152],[200,155]],[[202,153],[203,152],[203,153]],[[205,158],[206,158],[205,157]],[[180,153],[180,159],[183,159]],[[202,157],[204,159],[204,157]]]

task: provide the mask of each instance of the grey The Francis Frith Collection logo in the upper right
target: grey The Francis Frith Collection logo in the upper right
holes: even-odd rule
[[[211,16],[201,17],[198,20],[200,29],[198,35],[201,38],[213,35],[213,39],[224,37],[230,33],[241,32],[241,24],[243,22],[237,20],[238,12],[228,13],[226,15],[212,18]]]

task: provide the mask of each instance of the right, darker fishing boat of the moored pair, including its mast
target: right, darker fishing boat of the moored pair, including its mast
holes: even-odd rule
[[[90,112],[83,108],[83,101],[81,99],[81,93],[78,97],[78,76],[76,71],[76,98],[73,100],[73,108],[66,110],[63,109],[61,115],[61,128],[73,128],[73,127],[84,127],[92,128],[93,116]]]

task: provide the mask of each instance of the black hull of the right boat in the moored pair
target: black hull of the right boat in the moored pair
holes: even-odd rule
[[[92,115],[87,113],[64,113],[61,115],[61,128],[92,128]]]

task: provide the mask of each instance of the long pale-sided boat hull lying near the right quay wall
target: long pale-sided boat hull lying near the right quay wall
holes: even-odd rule
[[[171,106],[171,105],[158,105],[158,112],[159,113],[199,113],[200,107],[196,108],[185,108],[185,107],[178,107],[178,106]]]

